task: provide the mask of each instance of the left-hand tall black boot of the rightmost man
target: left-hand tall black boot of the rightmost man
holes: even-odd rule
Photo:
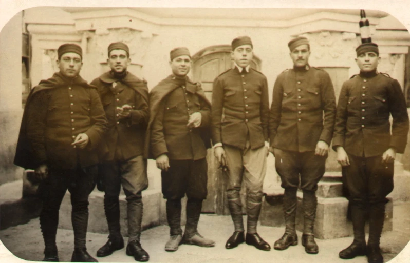
[[[366,208],[362,203],[352,202],[349,203],[349,207],[354,239],[349,247],[340,251],[339,257],[343,259],[352,259],[356,256],[366,255],[366,239],[364,232]]]

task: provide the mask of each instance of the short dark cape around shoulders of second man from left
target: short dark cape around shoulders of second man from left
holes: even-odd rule
[[[141,97],[144,98],[145,102],[148,103],[148,87],[147,82],[145,79],[140,79],[131,72],[127,72],[126,76],[117,79],[111,73],[111,71],[107,71],[98,78],[92,80],[91,85],[99,86],[98,82],[102,82],[104,84],[112,84],[114,82],[120,81],[129,88],[135,90]]]

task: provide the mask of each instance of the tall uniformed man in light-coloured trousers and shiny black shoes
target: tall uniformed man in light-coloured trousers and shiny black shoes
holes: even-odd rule
[[[270,250],[256,231],[262,207],[268,148],[269,97],[264,74],[252,69],[253,45],[248,36],[232,41],[235,67],[215,78],[212,93],[212,140],[215,156],[228,169],[228,207],[235,231],[225,247],[246,244]],[[248,225],[245,237],[240,188],[245,180]]]

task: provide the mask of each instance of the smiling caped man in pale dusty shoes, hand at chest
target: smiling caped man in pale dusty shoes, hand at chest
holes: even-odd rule
[[[198,233],[202,200],[207,197],[207,148],[210,138],[210,103],[199,84],[187,77],[191,55],[187,48],[170,53],[172,75],[150,93],[150,122],[145,140],[146,156],[156,159],[161,169],[162,193],[171,238],[166,251],[178,245],[213,247],[213,240]],[[208,139],[207,139],[207,138]],[[187,195],[187,223],[182,236],[181,198]]]

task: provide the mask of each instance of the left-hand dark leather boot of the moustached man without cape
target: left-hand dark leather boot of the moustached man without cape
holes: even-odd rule
[[[297,188],[285,188],[285,193],[283,196],[283,211],[285,214],[285,234],[274,244],[274,249],[285,250],[289,246],[297,245],[297,235],[295,230],[295,220],[296,220],[296,191]]]

